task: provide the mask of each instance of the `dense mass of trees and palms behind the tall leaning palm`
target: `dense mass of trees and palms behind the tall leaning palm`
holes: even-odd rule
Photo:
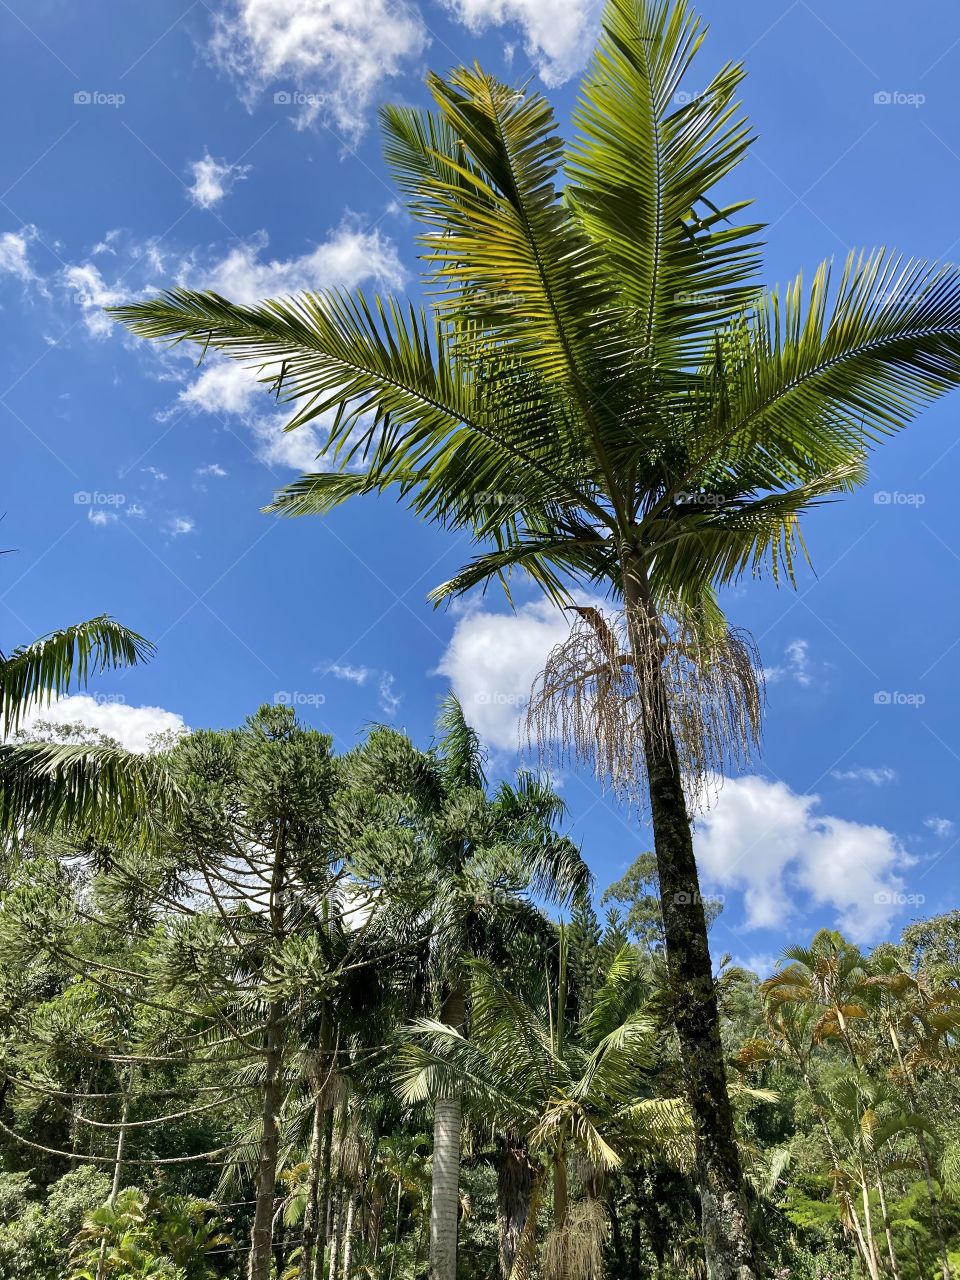
[[[451,1187],[460,1276],[704,1274],[649,855],[600,923],[557,796],[488,786],[453,701],[428,750],[270,707],[157,749],[148,842],[8,845],[1,1277],[413,1280]],[[771,1270],[960,1265],[959,961],[960,913],[722,966]]]

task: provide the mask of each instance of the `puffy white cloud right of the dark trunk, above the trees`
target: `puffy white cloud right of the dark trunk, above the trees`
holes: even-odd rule
[[[704,881],[742,891],[748,928],[780,929],[828,908],[840,929],[869,941],[906,904],[901,873],[913,860],[884,827],[822,814],[819,804],[785,782],[728,780],[696,822]]]

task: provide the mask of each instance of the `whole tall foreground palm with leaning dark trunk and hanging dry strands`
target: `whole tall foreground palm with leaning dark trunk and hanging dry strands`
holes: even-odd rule
[[[710,198],[750,147],[744,70],[691,81],[703,38],[686,0],[608,0],[566,148],[540,95],[479,67],[431,76],[433,111],[385,110],[429,312],[174,289],[115,314],[259,366],[297,403],[291,429],[332,415],[329,470],[273,509],[393,489],[477,544],[435,599],[522,571],[561,604],[577,582],[621,603],[613,625],[575,625],[543,721],[649,799],[710,1276],[746,1280],[684,786],[755,728],[749,654],[714,591],[792,580],[801,513],[863,483],[867,451],[960,383],[960,273],[874,252],[764,292],[745,202]]]

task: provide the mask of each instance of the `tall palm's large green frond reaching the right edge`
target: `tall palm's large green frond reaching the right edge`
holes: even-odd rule
[[[717,453],[854,461],[960,384],[960,269],[850,253],[763,298],[726,369]],[[799,468],[797,468],[799,470]]]

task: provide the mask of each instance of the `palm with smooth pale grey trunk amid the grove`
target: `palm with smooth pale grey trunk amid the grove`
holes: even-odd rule
[[[428,754],[387,728],[374,731],[353,753],[349,777],[358,827],[348,847],[353,874],[403,902],[420,922],[420,933],[429,938],[439,1020],[462,1030],[470,995],[465,957],[508,963],[512,940],[545,941],[549,929],[531,899],[568,905],[585,893],[590,872],[580,851],[556,831],[563,803],[550,787],[521,773],[516,785],[502,782],[488,794],[479,739],[452,695],[443,703],[438,730]],[[407,844],[398,838],[398,819]],[[452,1280],[462,1102],[456,1088],[438,1092],[433,1102],[430,1274]]]

